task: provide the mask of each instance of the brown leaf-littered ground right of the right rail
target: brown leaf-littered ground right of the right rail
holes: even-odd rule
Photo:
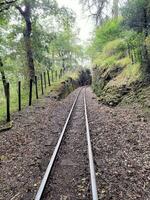
[[[87,90],[99,199],[150,199],[150,120],[137,105],[109,108]]]

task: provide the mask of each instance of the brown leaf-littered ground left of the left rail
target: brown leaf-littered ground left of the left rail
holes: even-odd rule
[[[62,101],[41,99],[0,133],[0,200],[33,199],[77,91]]]

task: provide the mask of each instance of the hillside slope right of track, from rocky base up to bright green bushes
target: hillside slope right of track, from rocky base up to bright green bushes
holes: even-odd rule
[[[120,19],[110,20],[96,30],[89,52],[94,66],[92,87],[100,102],[108,106],[140,103],[149,107],[150,76],[139,40],[136,32],[123,29]],[[142,45],[149,56],[148,37]]]

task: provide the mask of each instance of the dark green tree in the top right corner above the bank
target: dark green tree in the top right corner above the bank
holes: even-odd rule
[[[140,34],[143,39],[141,58],[144,70],[150,73],[150,56],[145,40],[150,31],[150,2],[147,0],[128,0],[122,9],[124,24]]]

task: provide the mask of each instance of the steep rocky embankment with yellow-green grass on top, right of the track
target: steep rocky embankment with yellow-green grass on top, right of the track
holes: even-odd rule
[[[94,61],[93,90],[109,106],[132,102],[150,106],[149,80],[140,63],[133,63],[123,39],[107,43]]]

